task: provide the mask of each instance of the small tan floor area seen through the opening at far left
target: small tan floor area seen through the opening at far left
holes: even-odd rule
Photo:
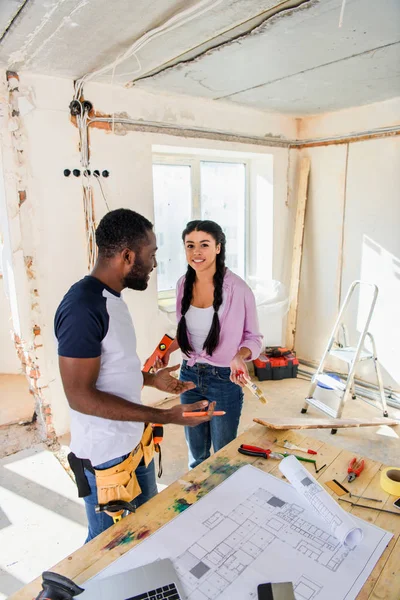
[[[0,373],[0,426],[30,421],[34,401],[25,375]]]

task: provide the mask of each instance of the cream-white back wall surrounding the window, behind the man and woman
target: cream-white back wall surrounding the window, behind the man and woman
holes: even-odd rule
[[[30,252],[35,258],[45,371],[54,425],[56,432],[62,434],[68,429],[68,411],[58,375],[53,318],[63,294],[87,272],[81,183],[74,177],[67,179],[63,176],[65,168],[79,167],[78,132],[70,123],[68,111],[73,88],[68,80],[30,75],[21,77],[20,88],[30,88],[35,103],[35,109],[24,117],[29,161],[27,202],[31,207],[34,232]],[[214,104],[208,100],[155,95],[100,84],[88,85],[85,94],[96,110],[105,113],[124,111],[135,119],[257,136],[275,134],[293,138],[296,134],[294,119],[229,104]],[[121,136],[93,129],[90,133],[91,167],[108,169],[111,173],[109,179],[103,180],[111,209],[123,206],[153,218],[153,144],[206,145],[247,152],[255,149],[246,144],[183,140],[133,132]],[[287,283],[290,265],[285,257],[289,255],[291,241],[286,232],[293,224],[293,206],[291,202],[287,205],[289,154],[282,148],[257,147],[258,151],[271,153],[274,157],[274,227],[278,235],[274,243],[273,271],[275,278],[286,279]],[[94,191],[96,217],[100,219],[106,207],[98,188],[94,187]],[[156,290],[153,276],[147,291],[127,291],[124,294],[135,322],[138,352],[142,359],[149,356],[169,327],[165,315],[158,310]],[[157,396],[150,393],[145,398],[154,401]]]

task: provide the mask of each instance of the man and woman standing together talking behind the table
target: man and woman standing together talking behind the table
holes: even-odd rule
[[[178,334],[173,344],[185,360],[143,373],[135,328],[121,297],[143,291],[157,266],[153,225],[142,215],[118,209],[96,229],[98,259],[90,275],[75,283],[55,315],[61,378],[71,414],[71,453],[79,495],[88,516],[87,541],[110,527],[98,504],[126,500],[140,506],[157,493],[149,423],[184,425],[190,466],[235,438],[242,408],[245,360],[258,356],[254,297],[225,268],[225,236],[212,221],[192,221],[183,232],[188,270],[178,282]],[[168,362],[168,357],[165,357]],[[171,408],[144,406],[143,385],[182,394]],[[215,401],[225,416],[213,418]],[[207,411],[184,417],[185,404]]]

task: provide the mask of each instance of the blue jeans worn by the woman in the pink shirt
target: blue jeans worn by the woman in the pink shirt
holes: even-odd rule
[[[214,367],[206,363],[188,367],[187,361],[182,363],[180,379],[196,385],[195,389],[181,394],[182,404],[193,404],[199,400],[215,401],[215,410],[226,412],[226,415],[214,417],[197,427],[185,427],[190,469],[210,456],[211,443],[214,452],[217,452],[237,436],[243,391],[236,383],[232,383],[230,374],[229,367]]]

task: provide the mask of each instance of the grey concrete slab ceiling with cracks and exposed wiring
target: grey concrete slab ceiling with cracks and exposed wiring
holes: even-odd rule
[[[139,51],[140,71],[132,57],[113,81],[299,116],[400,96],[400,0],[347,0],[339,28],[342,1],[216,1]],[[2,0],[0,64],[76,79],[194,4]]]

